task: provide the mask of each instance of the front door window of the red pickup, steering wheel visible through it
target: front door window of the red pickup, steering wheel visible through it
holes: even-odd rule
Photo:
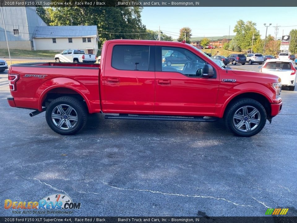
[[[202,77],[206,62],[191,51],[179,47],[162,47],[164,72],[179,72],[188,77]],[[177,55],[177,56],[172,56]]]

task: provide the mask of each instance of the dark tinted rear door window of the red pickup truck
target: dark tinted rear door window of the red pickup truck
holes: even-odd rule
[[[149,70],[149,46],[114,46],[111,66],[119,70]]]

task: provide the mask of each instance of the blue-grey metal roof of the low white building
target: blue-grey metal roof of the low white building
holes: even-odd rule
[[[33,38],[97,37],[97,26],[37,26]]]

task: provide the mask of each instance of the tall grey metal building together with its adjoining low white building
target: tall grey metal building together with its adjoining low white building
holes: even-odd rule
[[[47,26],[35,7],[3,7],[0,8],[0,55],[1,49],[7,49],[5,26],[10,49],[57,52],[80,49],[88,54],[98,51],[97,26]]]

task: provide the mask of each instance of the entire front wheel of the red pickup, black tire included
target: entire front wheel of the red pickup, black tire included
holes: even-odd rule
[[[235,135],[249,137],[259,133],[266,124],[265,108],[256,100],[241,98],[226,108],[226,127]]]

